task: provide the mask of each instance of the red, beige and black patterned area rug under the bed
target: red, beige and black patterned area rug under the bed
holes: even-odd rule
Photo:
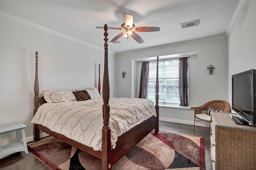
[[[28,144],[53,170],[101,170],[101,160],[54,137]],[[168,131],[151,132],[112,170],[205,170],[204,138]]]

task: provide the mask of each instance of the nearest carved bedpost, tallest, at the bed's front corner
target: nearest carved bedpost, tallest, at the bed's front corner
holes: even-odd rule
[[[109,127],[109,112],[110,107],[108,105],[110,88],[109,88],[109,77],[108,77],[108,25],[104,25],[104,49],[105,49],[105,59],[104,59],[104,75],[103,75],[103,85],[102,85],[102,98],[103,98],[103,129],[102,129],[102,170],[111,170],[111,140],[110,140],[110,127]]]

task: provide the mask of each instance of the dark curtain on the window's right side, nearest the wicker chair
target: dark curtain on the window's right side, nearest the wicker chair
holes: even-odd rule
[[[180,106],[188,106],[188,57],[179,59]]]

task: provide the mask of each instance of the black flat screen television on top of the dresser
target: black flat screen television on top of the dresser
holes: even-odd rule
[[[232,109],[235,123],[256,126],[256,70],[232,75]]]

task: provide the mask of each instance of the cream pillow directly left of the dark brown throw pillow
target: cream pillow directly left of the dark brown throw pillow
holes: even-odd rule
[[[53,92],[51,98],[54,103],[76,101],[76,96],[70,90]]]

